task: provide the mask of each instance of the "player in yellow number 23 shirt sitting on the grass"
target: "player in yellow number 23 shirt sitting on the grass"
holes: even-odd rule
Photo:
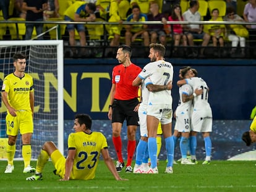
[[[105,136],[91,131],[92,119],[87,114],[77,114],[74,120],[75,133],[68,138],[67,159],[51,141],[43,144],[36,163],[36,173],[27,180],[41,180],[42,171],[49,157],[55,167],[55,174],[61,180],[90,180],[95,177],[96,167],[102,154],[106,166],[116,180],[124,180],[116,172],[114,162],[109,156],[108,143]]]

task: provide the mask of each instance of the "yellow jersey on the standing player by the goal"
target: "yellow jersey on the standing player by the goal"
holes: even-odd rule
[[[8,93],[8,101],[15,110],[32,111],[30,107],[30,92],[33,91],[33,78],[26,74],[19,78],[11,73],[4,78],[2,91]]]

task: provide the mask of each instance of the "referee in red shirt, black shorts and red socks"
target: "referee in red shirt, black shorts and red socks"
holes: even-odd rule
[[[132,86],[132,81],[139,75],[142,69],[130,61],[131,55],[132,50],[129,46],[119,46],[116,54],[119,65],[115,66],[112,72],[108,118],[112,120],[113,144],[118,158],[116,163],[117,172],[121,172],[124,167],[120,136],[122,124],[126,119],[128,138],[126,172],[132,172],[131,164],[136,148],[135,135],[139,125],[139,87]]]

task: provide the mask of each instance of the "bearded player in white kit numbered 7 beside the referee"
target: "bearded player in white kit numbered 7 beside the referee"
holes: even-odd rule
[[[165,47],[162,44],[150,44],[150,63],[145,65],[142,72],[139,73],[135,82],[141,82],[149,78],[150,82],[145,85],[150,88],[150,85],[164,85],[173,81],[173,65],[164,61]],[[136,84],[136,83],[135,83]],[[133,84],[134,85],[134,84]],[[171,124],[173,117],[173,98],[171,90],[153,92],[150,91],[147,105],[147,130],[148,130],[148,153],[151,160],[151,169],[148,173],[158,173],[157,168],[157,145],[156,133],[158,123],[161,122],[164,140],[166,142],[166,151],[168,164],[165,173],[173,173],[173,156],[174,143],[171,136]]]

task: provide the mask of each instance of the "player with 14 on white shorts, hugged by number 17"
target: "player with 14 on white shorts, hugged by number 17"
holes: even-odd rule
[[[179,78],[182,80],[189,77],[190,67],[185,67],[179,71]],[[195,75],[193,73],[193,75]],[[179,143],[181,149],[181,164],[194,165],[194,162],[191,162],[187,159],[187,151],[189,150],[189,134],[190,134],[190,117],[192,109],[192,100],[199,94],[202,94],[202,89],[195,90],[193,93],[192,86],[185,84],[179,88],[179,105],[177,106],[175,117],[176,123],[174,127],[174,133],[181,134],[181,141]],[[173,139],[175,136],[173,135]],[[175,144],[175,139],[174,139]]]

